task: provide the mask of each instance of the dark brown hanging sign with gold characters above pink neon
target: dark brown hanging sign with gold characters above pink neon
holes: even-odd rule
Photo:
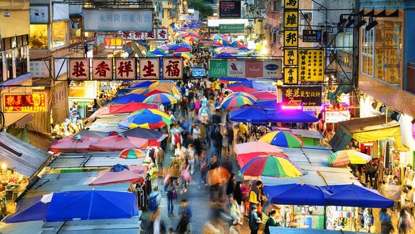
[[[282,87],[282,105],[284,107],[321,106],[322,87],[284,86]]]

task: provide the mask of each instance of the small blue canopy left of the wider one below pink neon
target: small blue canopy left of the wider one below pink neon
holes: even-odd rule
[[[267,123],[266,111],[254,107],[246,107],[230,111],[230,120],[243,123]]]

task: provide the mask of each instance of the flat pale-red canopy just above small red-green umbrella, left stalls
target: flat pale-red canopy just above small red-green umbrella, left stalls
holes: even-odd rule
[[[129,148],[145,150],[149,145],[149,139],[132,136],[106,136],[89,146],[91,150],[97,151],[122,151]]]

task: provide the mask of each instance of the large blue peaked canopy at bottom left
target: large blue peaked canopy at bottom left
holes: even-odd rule
[[[53,195],[46,222],[86,219],[122,219],[138,215],[131,192],[72,191]]]

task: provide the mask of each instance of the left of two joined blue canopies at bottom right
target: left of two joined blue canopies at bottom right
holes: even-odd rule
[[[281,186],[264,186],[264,193],[272,204],[324,206],[324,192],[317,186],[290,183]]]

